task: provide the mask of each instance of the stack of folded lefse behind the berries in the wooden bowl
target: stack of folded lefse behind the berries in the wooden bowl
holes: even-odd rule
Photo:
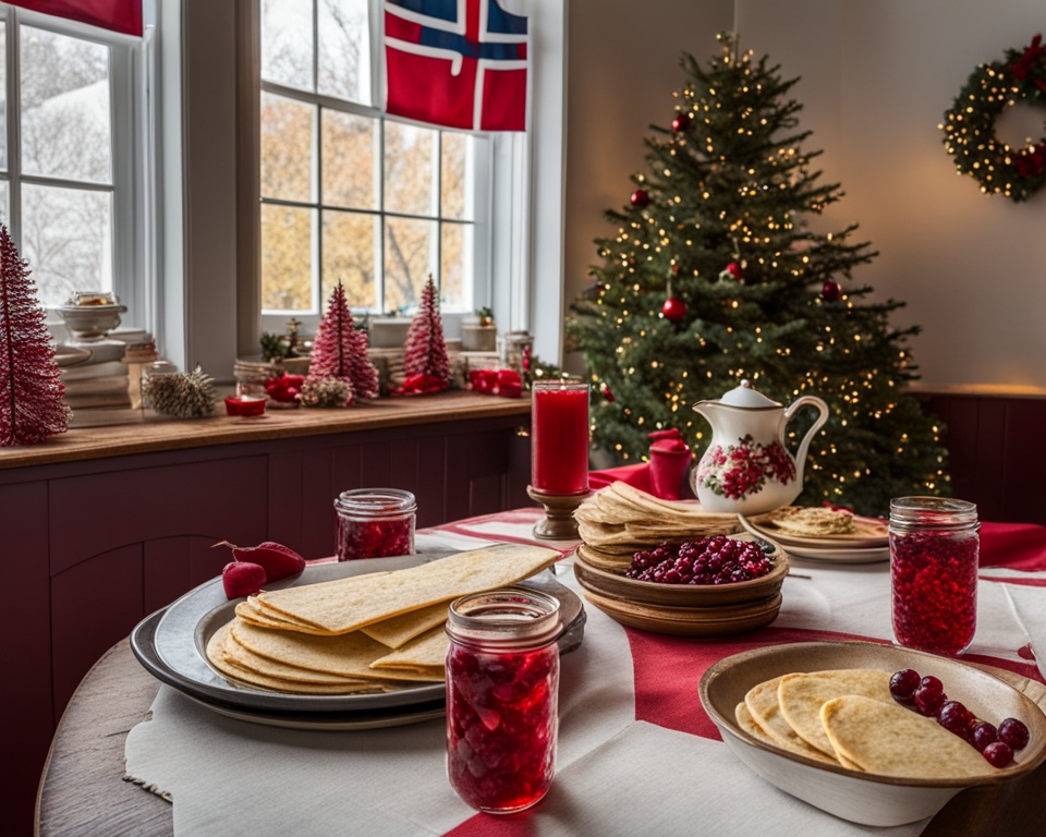
[[[627,483],[596,492],[574,510],[582,544],[593,567],[624,572],[632,556],[665,541],[696,541],[742,531],[738,515],[705,511],[693,500],[665,500]]]

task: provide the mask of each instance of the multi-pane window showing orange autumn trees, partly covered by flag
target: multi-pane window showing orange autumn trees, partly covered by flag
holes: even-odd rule
[[[260,0],[267,330],[309,324],[338,281],[373,313],[411,310],[429,275],[445,313],[489,304],[495,140],[382,118],[379,14],[378,0]]]

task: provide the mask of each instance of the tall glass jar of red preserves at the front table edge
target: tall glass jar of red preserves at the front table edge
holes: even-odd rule
[[[522,811],[552,784],[561,631],[559,602],[522,587],[450,606],[447,774],[477,811]]]

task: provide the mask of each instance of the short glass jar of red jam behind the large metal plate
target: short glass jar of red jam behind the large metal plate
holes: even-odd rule
[[[335,500],[338,560],[414,555],[417,500],[399,488],[353,488]]]

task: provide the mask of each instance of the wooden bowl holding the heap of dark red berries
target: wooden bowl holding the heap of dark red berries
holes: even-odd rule
[[[766,602],[781,592],[788,574],[788,557],[775,543],[746,533],[730,535],[737,541],[762,541],[773,547],[767,556],[774,561],[769,573],[752,581],[732,584],[658,584],[625,578],[622,572],[600,569],[585,560],[583,550],[574,555],[574,575],[586,590],[604,597],[656,607],[720,607],[745,602]]]

